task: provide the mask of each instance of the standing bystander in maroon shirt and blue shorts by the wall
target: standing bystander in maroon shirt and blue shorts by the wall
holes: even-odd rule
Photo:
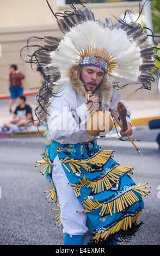
[[[6,80],[10,83],[9,90],[10,90],[11,100],[9,103],[9,111],[11,113],[12,112],[11,108],[15,103],[15,100],[17,99],[18,96],[23,94],[25,76],[21,71],[17,69],[17,65],[12,64],[10,65]]]

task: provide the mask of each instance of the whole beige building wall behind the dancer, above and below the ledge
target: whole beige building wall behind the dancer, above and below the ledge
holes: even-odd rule
[[[57,0],[58,1],[58,0]],[[53,10],[63,12],[70,10],[69,5],[58,5],[56,0],[50,0]],[[58,2],[60,3],[60,2]],[[63,1],[61,1],[63,3]],[[117,2],[86,4],[94,11],[96,19],[104,20],[105,17],[120,17],[127,9],[134,13],[139,13],[138,2]],[[114,19],[116,21],[116,19]],[[26,46],[27,39],[30,36],[44,37],[45,35],[61,36],[56,19],[53,17],[45,0],[1,0],[0,10],[0,44],[2,48],[2,57],[0,57],[0,94],[8,94],[8,83],[5,81],[10,64],[17,64],[19,69],[26,75],[25,90],[35,90],[40,88],[40,78],[33,72],[28,63],[23,62],[20,57],[20,50]],[[32,39],[32,44],[43,45],[40,39]],[[27,51],[24,50],[22,56],[26,59]],[[36,66],[34,66],[36,70]],[[145,97],[157,96],[155,91],[145,93]],[[130,95],[130,90],[121,90],[124,97]],[[138,97],[144,97],[144,93],[139,92]],[[137,99],[137,96],[133,95]]]

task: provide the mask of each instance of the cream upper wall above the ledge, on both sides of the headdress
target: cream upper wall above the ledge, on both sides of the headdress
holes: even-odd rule
[[[63,5],[64,0],[49,0],[54,12],[71,9],[70,5]],[[97,19],[104,17],[120,17],[127,9],[139,13],[138,2],[106,2],[85,4],[94,11]],[[79,5],[76,5],[77,7]],[[56,23],[46,0],[1,0],[0,28],[29,27],[52,25]]]

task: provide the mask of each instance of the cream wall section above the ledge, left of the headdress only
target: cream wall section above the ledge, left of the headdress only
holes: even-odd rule
[[[50,0],[53,9],[57,1]],[[46,0],[1,0],[0,27],[29,27],[56,23]]]

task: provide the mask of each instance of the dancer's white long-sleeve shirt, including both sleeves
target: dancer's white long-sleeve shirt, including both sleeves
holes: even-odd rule
[[[77,144],[91,141],[94,137],[89,135],[85,127],[87,119],[90,117],[85,97],[77,93],[68,82],[58,97],[54,97],[51,105],[50,116],[48,116],[48,139],[53,139],[61,144]],[[117,111],[118,102],[121,101],[121,95],[113,89],[112,101],[109,108]],[[121,101],[124,104],[124,101]],[[124,104],[125,105],[125,104]],[[127,109],[127,122],[131,123],[130,109]],[[102,109],[103,110],[103,109]],[[116,117],[119,118],[118,112],[114,112]]]

